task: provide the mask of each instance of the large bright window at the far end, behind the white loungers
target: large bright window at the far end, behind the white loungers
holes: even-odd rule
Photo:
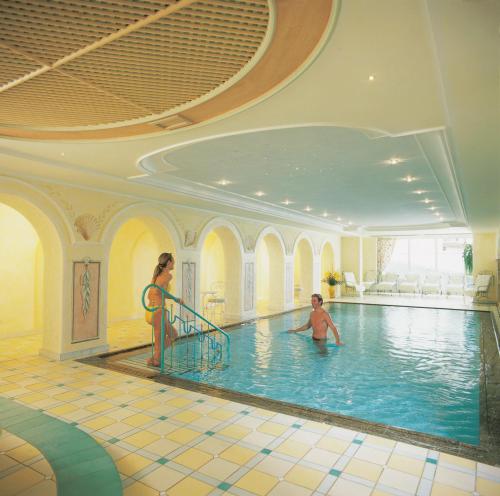
[[[472,238],[467,236],[397,238],[385,272],[463,274],[462,253],[465,243],[472,243]]]

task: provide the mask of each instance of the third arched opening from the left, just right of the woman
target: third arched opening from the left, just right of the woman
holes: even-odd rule
[[[222,325],[241,317],[241,248],[227,227],[210,231],[201,249],[201,305],[205,317]]]

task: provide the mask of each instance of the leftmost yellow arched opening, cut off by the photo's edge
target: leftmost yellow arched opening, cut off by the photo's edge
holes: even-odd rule
[[[0,203],[0,339],[2,358],[60,348],[62,249],[41,210],[15,197]]]

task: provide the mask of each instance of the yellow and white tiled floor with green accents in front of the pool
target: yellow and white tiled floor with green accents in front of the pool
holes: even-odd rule
[[[144,339],[138,325],[122,325],[112,346]],[[0,351],[0,396],[90,433],[113,457],[126,496],[500,494],[500,467],[51,362],[27,351],[26,341],[18,355],[14,348]]]

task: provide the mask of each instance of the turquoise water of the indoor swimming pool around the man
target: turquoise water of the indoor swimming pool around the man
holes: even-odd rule
[[[224,370],[180,377],[479,444],[477,312],[330,304],[345,346],[319,348],[296,311],[231,331]]]

